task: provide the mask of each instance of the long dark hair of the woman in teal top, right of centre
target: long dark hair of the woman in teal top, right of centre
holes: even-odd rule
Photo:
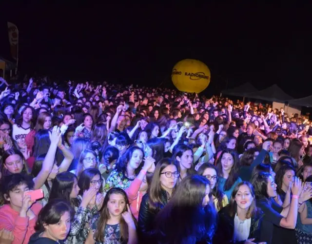
[[[216,165],[216,168],[218,169],[219,177],[223,177],[221,160],[225,153],[229,153],[233,157],[233,166],[229,173],[229,177],[228,179],[226,179],[225,184],[224,184],[224,190],[226,191],[226,190],[229,190],[233,186],[235,181],[238,179],[239,159],[238,159],[237,153],[233,149],[223,150]]]

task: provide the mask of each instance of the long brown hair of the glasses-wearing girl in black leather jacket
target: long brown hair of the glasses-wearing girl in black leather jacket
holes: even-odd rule
[[[152,209],[159,209],[161,205],[166,204],[166,203],[163,203],[163,200],[162,200],[163,189],[162,189],[161,184],[160,184],[160,173],[168,165],[175,165],[176,166],[176,164],[174,162],[172,162],[172,160],[169,158],[164,158],[164,159],[160,160],[156,165],[151,184],[149,184],[149,189],[148,189],[149,200],[148,201],[149,201],[149,206]],[[177,187],[176,185],[173,189],[173,192],[175,191],[175,189]],[[169,195],[169,193],[167,193],[167,197],[169,197],[168,195]]]

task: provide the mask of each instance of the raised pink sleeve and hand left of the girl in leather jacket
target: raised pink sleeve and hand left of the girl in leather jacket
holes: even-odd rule
[[[142,181],[136,178],[129,185],[129,187],[125,190],[129,199],[129,203],[130,203],[130,210],[136,219],[138,219],[138,211],[140,210],[142,197],[145,194],[141,191],[138,191],[141,184],[142,184]]]

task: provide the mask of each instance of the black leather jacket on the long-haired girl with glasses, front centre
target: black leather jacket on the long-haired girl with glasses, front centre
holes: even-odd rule
[[[149,194],[145,194],[142,198],[140,210],[138,213],[138,235],[140,243],[155,242],[156,231],[154,229],[154,220],[157,213],[168,203],[167,192],[162,190],[161,202],[158,208],[151,209],[149,205]],[[153,240],[154,239],[154,240]],[[152,241],[152,242],[151,242]]]

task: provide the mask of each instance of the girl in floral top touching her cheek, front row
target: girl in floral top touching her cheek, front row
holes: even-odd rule
[[[137,244],[136,220],[131,214],[126,193],[111,188],[104,199],[99,215],[90,223],[85,244]]]

